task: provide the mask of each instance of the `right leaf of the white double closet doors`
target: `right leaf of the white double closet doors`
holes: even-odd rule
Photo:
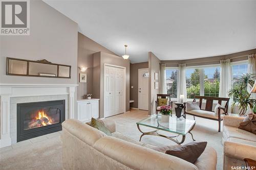
[[[115,68],[115,111],[116,114],[124,113],[124,69],[123,68]]]

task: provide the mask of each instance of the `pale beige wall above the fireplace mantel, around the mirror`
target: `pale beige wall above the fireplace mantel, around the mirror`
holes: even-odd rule
[[[6,57],[71,65],[71,79],[6,75]],[[30,1],[30,35],[1,36],[0,83],[76,84],[77,23],[42,1]]]

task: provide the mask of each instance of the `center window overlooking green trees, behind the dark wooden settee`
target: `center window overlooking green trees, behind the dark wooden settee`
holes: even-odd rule
[[[187,99],[196,95],[219,96],[220,67],[187,68],[186,69]]]

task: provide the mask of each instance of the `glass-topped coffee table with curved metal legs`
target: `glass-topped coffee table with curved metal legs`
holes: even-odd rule
[[[195,141],[193,134],[191,133],[191,130],[193,130],[193,128],[195,127],[196,120],[177,118],[176,116],[173,116],[173,117],[169,117],[169,122],[162,122],[161,115],[155,114],[155,115],[152,115],[150,117],[147,117],[147,118],[141,120],[140,122],[137,122],[136,124],[137,124],[139,131],[142,133],[142,135],[140,136],[140,141],[141,141],[142,136],[144,136],[144,135],[155,135],[155,136],[165,137],[165,138],[170,139],[178,144],[181,144],[185,141],[185,137],[186,137],[187,133],[190,133],[190,135],[192,136],[192,139]],[[146,127],[150,127],[150,128],[156,129],[156,130],[150,131],[150,132],[143,132],[140,129],[140,126],[146,126]],[[166,136],[166,135],[159,133],[159,131],[166,131],[166,132],[170,132],[170,133],[175,133],[177,135]],[[178,136],[180,136],[180,135],[182,136],[182,139],[179,141]]]

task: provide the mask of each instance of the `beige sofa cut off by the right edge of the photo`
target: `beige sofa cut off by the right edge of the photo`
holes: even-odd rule
[[[239,129],[243,117],[223,117],[223,169],[245,166],[244,158],[256,158],[256,135]]]

